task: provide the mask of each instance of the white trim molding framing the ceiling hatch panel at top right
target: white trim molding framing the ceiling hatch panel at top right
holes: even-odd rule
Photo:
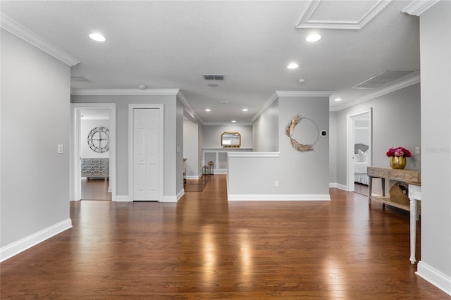
[[[296,28],[322,28],[322,29],[347,29],[347,30],[361,30],[366,24],[368,24],[373,18],[378,15],[392,0],[379,0],[369,11],[367,11],[360,20],[356,21],[333,21],[323,20],[314,21],[310,20],[311,15],[318,8],[321,0],[311,0],[309,6],[304,11],[301,19],[296,25]]]

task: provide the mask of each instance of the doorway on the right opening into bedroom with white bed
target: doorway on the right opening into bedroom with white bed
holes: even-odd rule
[[[372,108],[347,115],[347,189],[368,196],[372,163]]]

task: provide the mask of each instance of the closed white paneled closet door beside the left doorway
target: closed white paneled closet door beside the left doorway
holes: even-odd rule
[[[133,200],[160,201],[160,113],[154,108],[133,109]]]

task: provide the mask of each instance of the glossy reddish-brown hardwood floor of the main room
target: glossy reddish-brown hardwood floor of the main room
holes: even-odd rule
[[[330,196],[228,202],[214,175],[177,204],[72,202],[72,229],[1,263],[1,299],[451,299],[414,274],[407,212]]]

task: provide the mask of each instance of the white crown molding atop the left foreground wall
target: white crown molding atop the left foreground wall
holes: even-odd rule
[[[11,32],[13,35],[16,35],[17,37],[20,37],[20,39],[23,39],[25,42],[32,44],[38,49],[41,49],[42,51],[53,56],[59,61],[66,63],[66,65],[70,65],[72,67],[73,65],[77,65],[78,63],[80,63],[80,61],[78,61],[77,58],[70,56],[63,50],[59,49],[58,47],[50,44],[42,37],[39,37],[39,35],[36,35],[35,32],[32,32],[31,30],[28,30],[27,28],[23,27],[15,20],[9,18],[4,13],[0,14],[1,14],[0,27],[3,28],[4,30]]]

